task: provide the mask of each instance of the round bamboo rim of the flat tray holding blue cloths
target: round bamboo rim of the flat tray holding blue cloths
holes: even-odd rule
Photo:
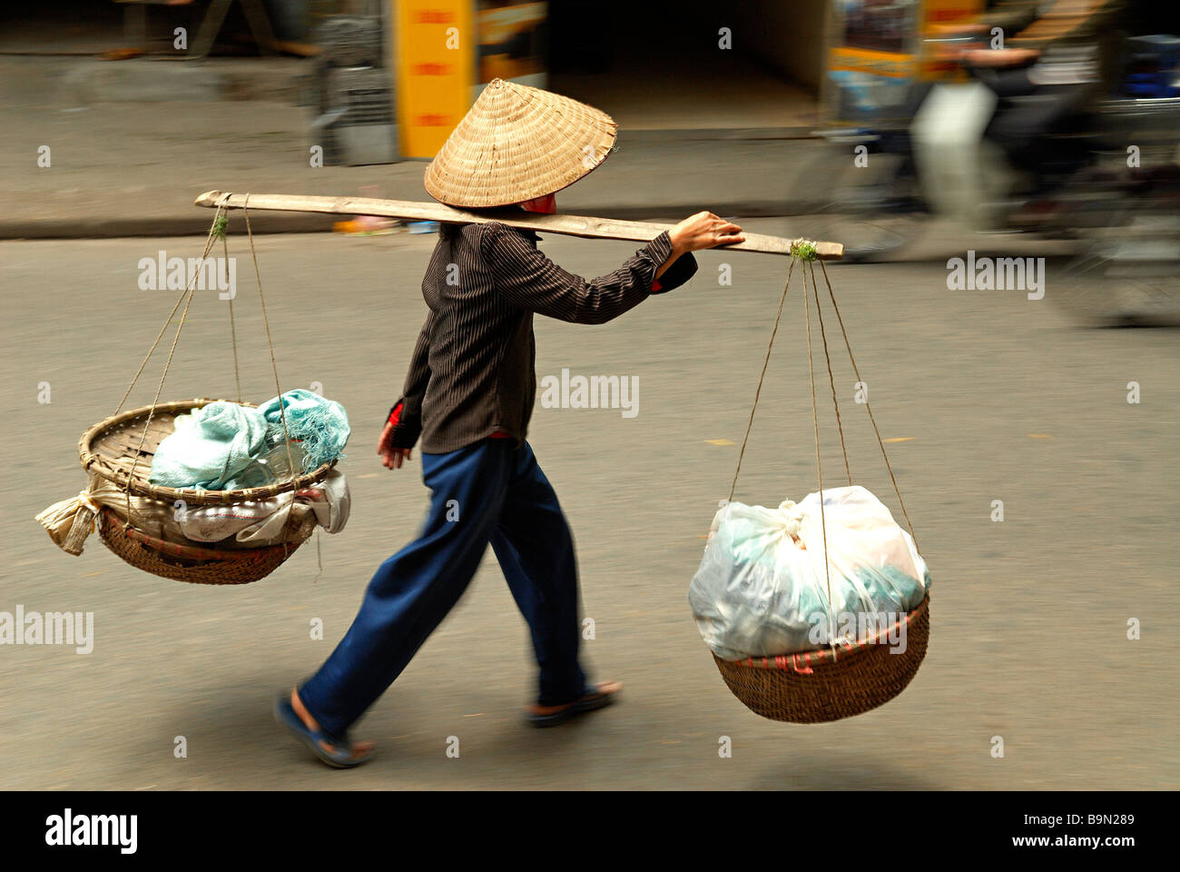
[[[245,488],[241,490],[198,490],[196,488],[170,488],[162,484],[153,484],[145,477],[146,475],[150,475],[150,467],[143,468],[144,475],[139,475],[137,470],[135,476],[130,476],[126,470],[123,470],[112,463],[111,458],[94,450],[94,443],[98,440],[109,434],[111,430],[126,425],[137,418],[146,417],[149,414],[152,414],[155,417],[159,417],[162,414],[185,414],[191,409],[199,409],[201,406],[215,402],[218,401],[208,397],[181,399],[169,403],[157,403],[155,411],[152,411],[152,406],[145,405],[139,409],[131,409],[109,418],[104,418],[86,430],[86,432],[81,435],[81,438],[78,440],[78,460],[81,461],[83,469],[86,471],[100,475],[124,489],[130,486],[131,492],[135,494],[151,496],[156,500],[163,500],[165,502],[183,500],[195,506],[217,506],[245,502],[247,500],[268,500],[271,496],[277,496],[278,494],[286,494],[291,490],[300,490],[302,488],[310,487],[312,484],[321,481],[328,474],[328,470],[335,466],[335,461],[323,463],[317,469],[314,469],[310,473],[304,473],[303,475],[296,476],[289,481],[275,482],[274,484],[266,484],[258,488]],[[235,403],[237,401],[227,399],[221,402]],[[255,408],[254,403],[241,403],[240,405]],[[148,445],[145,444],[145,448]],[[151,448],[155,448],[155,445],[151,445]]]

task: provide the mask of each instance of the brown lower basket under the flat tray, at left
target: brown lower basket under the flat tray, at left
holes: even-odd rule
[[[99,527],[103,544],[124,562],[175,581],[197,585],[245,585],[277,570],[302,542],[262,548],[212,552],[211,548],[166,542],[126,526],[104,509]]]

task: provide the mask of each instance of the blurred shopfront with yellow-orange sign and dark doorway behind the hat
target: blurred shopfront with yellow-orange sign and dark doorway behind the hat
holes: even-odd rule
[[[136,67],[125,73],[129,91],[142,86],[145,64],[163,59],[255,58],[293,71],[277,61],[314,59],[297,72],[317,130],[368,124],[393,134],[392,149],[353,135],[329,149],[332,160],[363,162],[432,156],[496,77],[609,106],[630,128],[811,124],[827,13],[825,0],[725,9],[701,0],[57,0],[7,5],[0,53],[119,60]],[[160,87],[194,78],[150,74]]]

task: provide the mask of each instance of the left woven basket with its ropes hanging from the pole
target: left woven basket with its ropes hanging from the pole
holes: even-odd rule
[[[204,262],[216,240],[222,240],[225,250],[227,217],[223,208],[218,208],[214,216],[212,224],[205,240],[204,252],[201,261]],[[243,208],[247,235],[250,242],[250,254],[254,260],[255,278],[258,285],[258,299],[262,305],[262,320],[266,326],[267,343],[270,347],[270,364],[275,377],[275,390],[281,398],[282,390],[278,384],[278,372],[275,365],[274,344],[270,338],[270,325],[267,319],[266,298],[262,292],[262,280],[258,274],[257,255],[254,249],[254,234],[250,229],[249,212]],[[227,252],[228,258],[228,252]],[[152,457],[159,448],[160,442],[175,430],[175,421],[182,415],[202,409],[214,402],[236,403],[237,405],[255,409],[253,403],[242,401],[241,378],[238,376],[237,362],[237,336],[234,326],[234,301],[229,300],[230,311],[230,334],[234,345],[234,375],[237,383],[237,398],[234,401],[215,401],[206,397],[195,399],[162,402],[164,382],[168,377],[172,356],[176,352],[181,331],[192,302],[194,292],[197,285],[197,274],[194,274],[184,291],[177,298],[172,310],[169,312],[160,327],[156,340],[152,343],[144,357],[139,370],[131,379],[123,399],[116,408],[114,414],[90,429],[87,429],[78,442],[78,457],[83,469],[90,475],[90,484],[70,506],[72,521],[60,523],[65,518],[64,509],[59,509],[55,519],[59,522],[60,535],[54,534],[51,528],[53,520],[47,520],[54,509],[64,506],[58,503],[50,507],[38,520],[50,529],[51,535],[58,544],[71,554],[81,553],[83,542],[86,536],[97,527],[101,541],[106,547],[126,561],[131,566],[150,572],[162,578],[189,581],[194,584],[208,585],[238,585],[249,584],[266,578],[274,572],[288,557],[290,557],[303,538],[284,538],[275,545],[261,545],[250,547],[245,544],[234,541],[230,536],[225,542],[196,542],[185,539],[175,532],[156,534],[140,529],[143,519],[152,516],[160,518],[164,513],[173,510],[186,510],[188,507],[205,506],[240,506],[245,502],[269,500],[271,497],[289,492],[300,492],[317,482],[323,481],[329,470],[335,466],[335,460],[321,463],[310,471],[300,473],[299,467],[290,456],[290,434],[288,431],[287,409],[283,402],[278,403],[280,419],[282,422],[283,437],[287,442],[287,460],[290,476],[286,481],[273,481],[270,483],[236,490],[205,490],[199,488],[172,488],[152,483],[149,480]],[[183,305],[183,310],[182,310]],[[160,340],[177,311],[181,311],[179,321],[176,325],[176,333],[172,337],[171,349],[164,371],[160,375],[156,395],[150,405],[123,411],[123,405],[131,395],[132,389],[143,375],[148,362],[156,351]],[[112,488],[117,489],[111,496]],[[101,492],[109,499],[98,501],[94,492]],[[68,501],[67,501],[68,502]],[[137,526],[137,521],[140,521]],[[157,525],[158,526],[158,525]]]

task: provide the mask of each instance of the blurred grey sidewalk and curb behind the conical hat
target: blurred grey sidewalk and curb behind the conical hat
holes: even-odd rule
[[[296,105],[302,63],[0,57],[0,239],[201,234],[210,214],[192,200],[211,189],[428,199],[422,161],[310,165],[315,143]],[[813,210],[830,193],[817,183],[817,165],[834,173],[840,158],[800,142],[804,134],[628,128],[601,169],[562,193],[560,207],[669,220],[703,208]],[[38,165],[42,147],[47,168]],[[339,220],[256,219],[260,232],[324,230]]]

